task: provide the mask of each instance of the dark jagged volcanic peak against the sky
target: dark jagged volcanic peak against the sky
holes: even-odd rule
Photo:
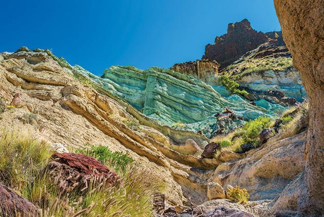
[[[217,36],[215,44],[206,46],[202,59],[216,60],[221,67],[224,67],[267,40],[268,37],[264,33],[253,30],[250,22],[244,19],[241,22],[229,24],[226,34]]]

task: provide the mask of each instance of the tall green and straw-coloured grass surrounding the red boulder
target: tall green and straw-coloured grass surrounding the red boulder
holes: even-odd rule
[[[46,142],[36,139],[31,133],[0,132],[0,182],[14,188],[39,208],[39,216],[153,216],[153,196],[164,189],[164,184],[152,171],[132,165],[134,160],[129,155],[114,154],[103,146],[91,147],[87,154],[104,164],[122,164],[118,167],[121,182],[115,186],[105,185],[104,178],[97,177],[89,180],[83,191],[76,186],[72,191],[64,192],[59,187],[63,182],[44,169],[52,155]],[[0,204],[2,206],[5,205]],[[21,216],[18,213],[0,213],[0,216],[6,215]]]

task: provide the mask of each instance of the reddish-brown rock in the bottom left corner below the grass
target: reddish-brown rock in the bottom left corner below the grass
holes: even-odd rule
[[[37,208],[26,198],[0,184],[0,216],[37,217]]]

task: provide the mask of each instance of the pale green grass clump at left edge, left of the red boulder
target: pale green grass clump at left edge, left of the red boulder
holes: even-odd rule
[[[6,186],[19,186],[32,179],[33,172],[50,159],[49,145],[30,132],[0,131],[0,180]]]

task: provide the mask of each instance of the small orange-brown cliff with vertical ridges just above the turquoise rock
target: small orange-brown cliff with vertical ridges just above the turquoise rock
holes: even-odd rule
[[[218,67],[219,64],[216,61],[196,60],[195,62],[176,63],[170,69],[205,82],[212,82],[213,78],[218,75]]]

